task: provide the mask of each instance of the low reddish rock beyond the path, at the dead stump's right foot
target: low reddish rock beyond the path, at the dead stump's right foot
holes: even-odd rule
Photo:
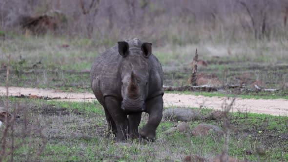
[[[214,75],[207,75],[207,74],[197,74],[197,79],[196,79],[196,84],[197,85],[213,85],[213,86],[220,86],[221,81],[219,78]]]

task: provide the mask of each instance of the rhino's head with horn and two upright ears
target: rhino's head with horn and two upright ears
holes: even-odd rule
[[[118,51],[122,56],[121,75],[121,108],[126,111],[144,111],[149,86],[149,64],[152,44],[142,43],[141,48],[129,48],[126,41],[118,42]]]

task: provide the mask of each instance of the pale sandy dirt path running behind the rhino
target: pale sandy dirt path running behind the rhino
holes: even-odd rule
[[[91,93],[69,93],[51,89],[9,87],[9,96],[20,95],[37,95],[47,96],[50,98],[60,97],[58,101],[95,101],[94,94]],[[0,86],[0,96],[6,95],[6,88]],[[185,94],[169,94],[164,95],[164,105],[180,106],[180,107],[206,107],[215,110],[221,110],[225,103],[230,103],[232,99],[225,97],[205,97]],[[288,100],[285,99],[242,99],[237,98],[233,104],[234,112],[251,112],[263,113],[271,115],[288,116]]]

